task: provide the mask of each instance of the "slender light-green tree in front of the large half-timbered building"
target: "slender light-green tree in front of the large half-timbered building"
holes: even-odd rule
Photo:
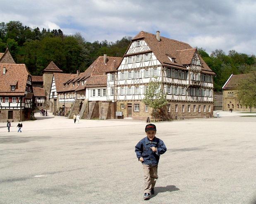
[[[167,105],[166,95],[162,89],[162,82],[158,82],[157,78],[148,83],[148,89],[142,102],[153,109],[153,118],[156,118],[158,115],[158,110],[161,111]]]

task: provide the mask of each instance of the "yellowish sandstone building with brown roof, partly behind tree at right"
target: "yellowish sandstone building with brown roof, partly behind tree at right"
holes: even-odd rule
[[[237,98],[237,91],[239,86],[239,81],[246,79],[250,74],[239,74],[239,75],[230,75],[228,80],[223,85],[223,111],[250,111],[249,106],[244,106],[240,103]],[[255,106],[251,107],[252,111],[256,111]]]

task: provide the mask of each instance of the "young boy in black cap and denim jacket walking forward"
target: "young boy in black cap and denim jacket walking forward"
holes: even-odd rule
[[[166,152],[165,144],[156,138],[156,125],[147,124],[145,127],[146,137],[135,146],[135,152],[144,170],[144,199],[149,199],[154,194],[156,179],[158,179],[157,168],[160,155]]]

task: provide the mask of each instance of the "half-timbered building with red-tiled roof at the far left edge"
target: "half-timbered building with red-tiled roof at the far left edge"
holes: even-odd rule
[[[33,88],[25,64],[0,63],[0,121],[29,120]]]

